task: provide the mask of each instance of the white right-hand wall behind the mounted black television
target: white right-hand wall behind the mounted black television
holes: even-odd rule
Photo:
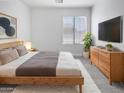
[[[107,44],[107,42],[98,40],[98,23],[120,15],[124,15],[124,0],[99,0],[99,2],[93,7],[92,33],[95,36],[94,41],[96,45],[105,46],[105,44]],[[114,47],[124,50],[124,42],[112,44]]]

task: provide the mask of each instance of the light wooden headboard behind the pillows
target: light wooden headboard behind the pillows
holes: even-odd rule
[[[23,45],[23,41],[11,41],[11,42],[0,43],[0,50],[5,48],[16,47],[19,45]]]

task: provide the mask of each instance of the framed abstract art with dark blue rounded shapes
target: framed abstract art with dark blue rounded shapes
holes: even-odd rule
[[[12,39],[17,37],[17,19],[4,13],[0,13],[0,39]]]

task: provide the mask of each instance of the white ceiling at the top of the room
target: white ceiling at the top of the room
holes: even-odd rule
[[[22,0],[31,7],[92,7],[98,0],[63,0],[56,3],[55,0]]]

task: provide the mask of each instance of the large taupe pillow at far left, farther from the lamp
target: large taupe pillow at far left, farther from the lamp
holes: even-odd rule
[[[19,58],[19,54],[16,49],[6,49],[0,52],[0,64],[7,64],[15,59]]]

